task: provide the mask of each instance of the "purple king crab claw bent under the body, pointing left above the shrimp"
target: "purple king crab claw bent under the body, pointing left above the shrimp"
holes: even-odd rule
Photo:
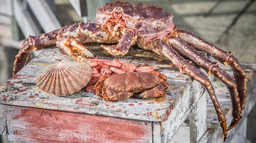
[[[128,53],[131,45],[135,44],[137,36],[135,34],[135,30],[128,28],[126,33],[122,35],[118,44],[112,46],[101,45],[103,49],[105,49],[112,56],[124,56]]]

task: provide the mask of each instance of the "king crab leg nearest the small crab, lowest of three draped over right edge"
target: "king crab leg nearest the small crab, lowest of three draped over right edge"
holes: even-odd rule
[[[226,127],[226,118],[221,110],[220,104],[217,100],[216,94],[214,92],[214,89],[212,87],[212,84],[209,80],[209,77],[206,76],[203,72],[201,72],[196,67],[190,65],[187,60],[185,60],[183,57],[181,57],[171,46],[167,45],[162,40],[150,40],[147,45],[143,45],[141,42],[143,41],[143,38],[139,38],[137,44],[143,48],[143,49],[150,49],[151,51],[154,51],[155,53],[159,55],[164,55],[168,59],[170,59],[175,66],[178,67],[179,71],[181,73],[186,73],[193,77],[196,81],[198,81],[200,84],[202,84],[206,90],[208,91],[210,98],[212,100],[212,103],[214,105],[214,108],[218,115],[218,120],[220,122],[220,125],[223,130],[224,140],[227,136],[227,127]]]

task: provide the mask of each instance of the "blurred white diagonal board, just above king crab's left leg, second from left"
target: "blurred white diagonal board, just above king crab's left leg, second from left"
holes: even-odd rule
[[[26,0],[45,32],[61,28],[61,25],[46,0]]]

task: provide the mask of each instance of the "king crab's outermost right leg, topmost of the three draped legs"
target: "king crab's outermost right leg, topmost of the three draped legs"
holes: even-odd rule
[[[231,52],[225,52],[216,46],[211,45],[203,41],[200,37],[193,33],[183,30],[174,30],[173,34],[180,38],[182,41],[188,43],[192,47],[199,49],[200,51],[206,52],[210,56],[216,58],[218,61],[223,63],[223,65],[230,65],[234,72],[235,83],[237,85],[238,95],[240,98],[241,110],[244,109],[245,99],[246,99],[246,73],[244,68],[238,62],[238,60],[232,55]],[[236,124],[236,121],[232,121],[228,130],[232,129]]]

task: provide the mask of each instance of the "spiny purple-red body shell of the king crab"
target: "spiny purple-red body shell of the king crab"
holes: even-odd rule
[[[142,3],[128,3],[116,1],[106,3],[97,9],[96,24],[103,25],[106,18],[124,20],[127,28],[135,29],[139,37],[161,34],[175,27],[173,15],[166,13],[162,8],[155,5],[143,5]],[[120,21],[118,21],[120,24]]]

